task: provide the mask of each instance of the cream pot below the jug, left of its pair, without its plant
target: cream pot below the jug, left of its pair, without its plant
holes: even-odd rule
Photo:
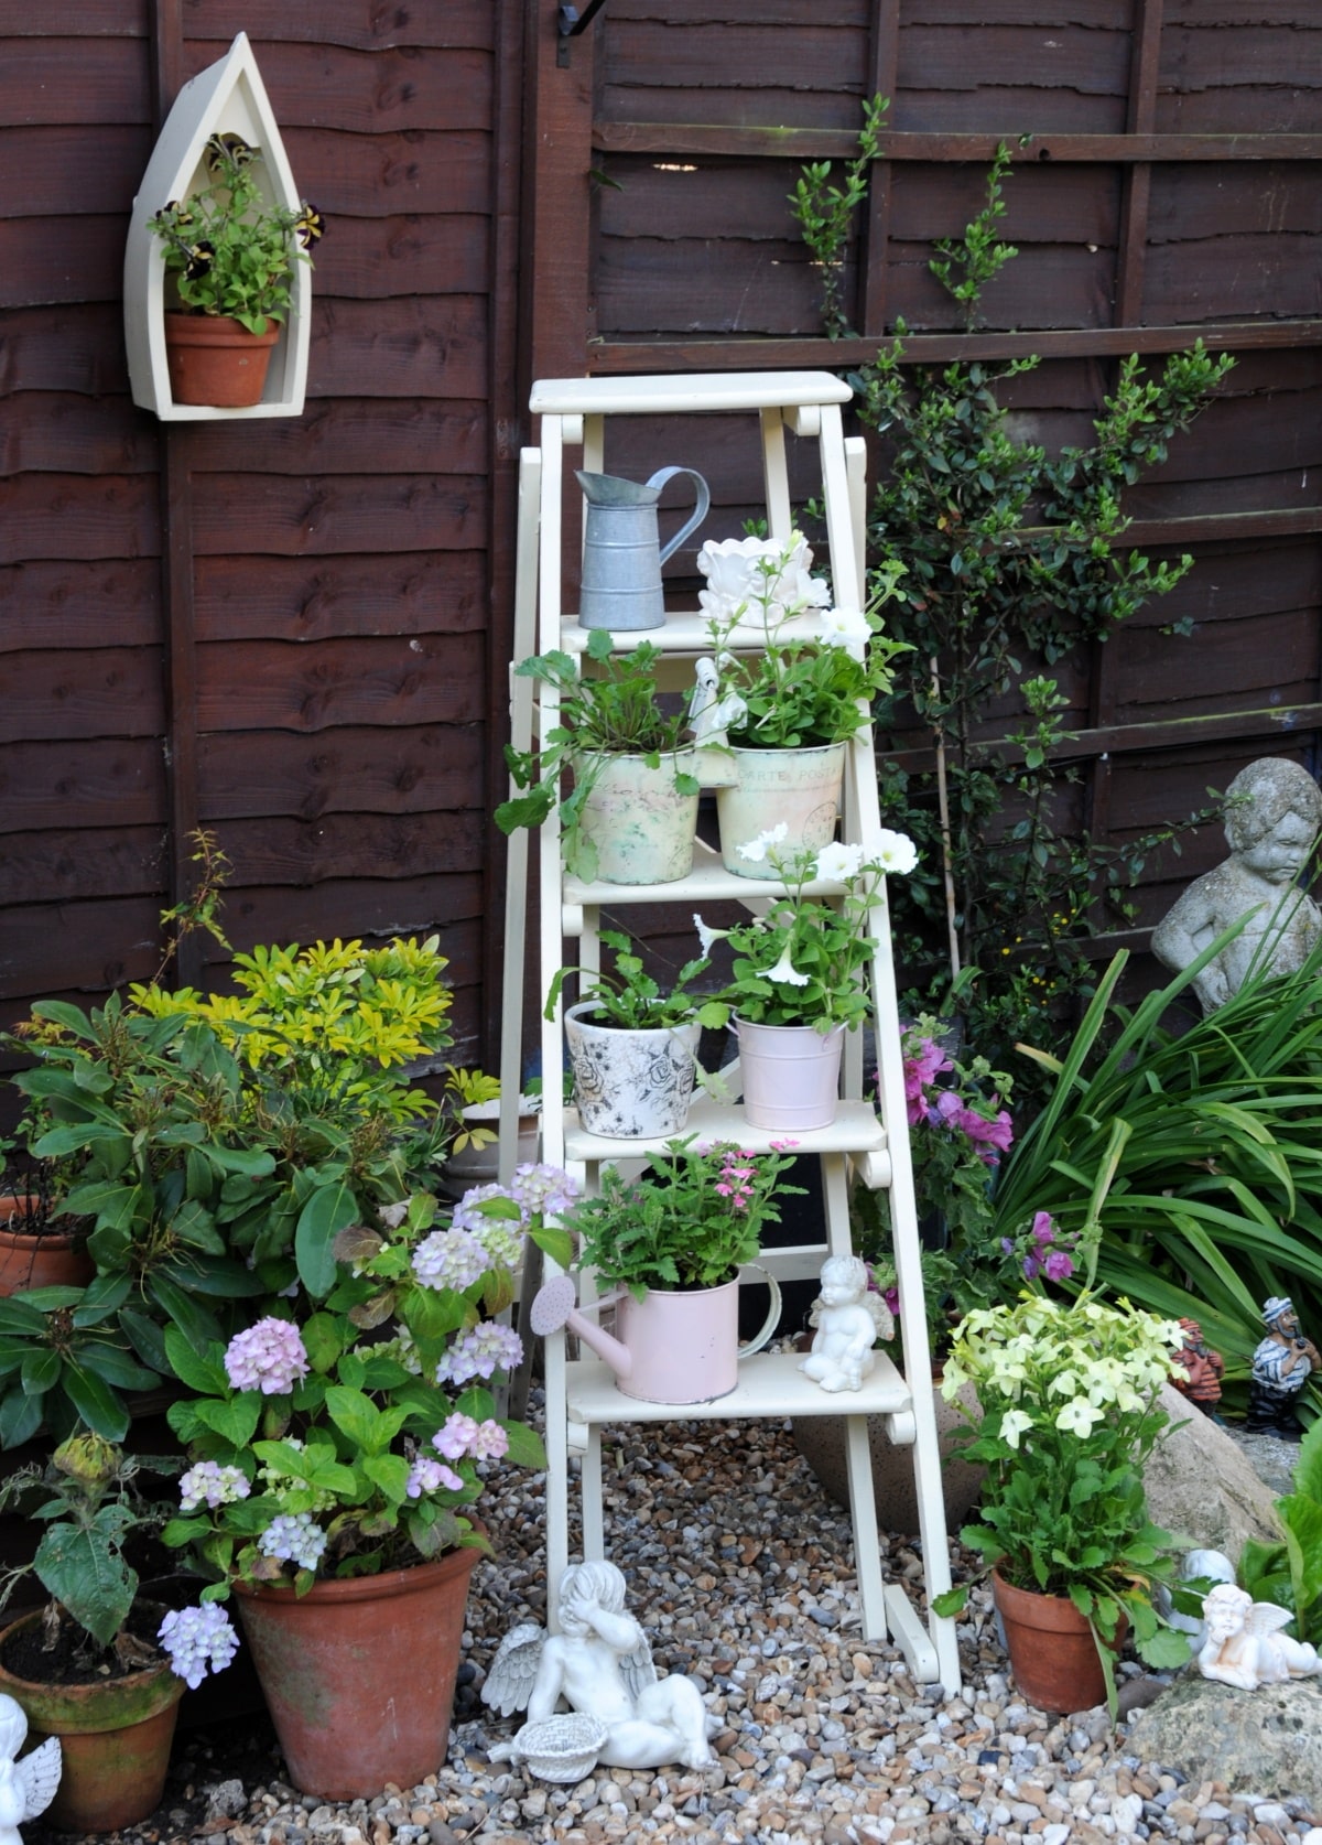
[[[579,827],[597,849],[603,884],[675,884],[693,869],[697,795],[675,775],[697,775],[695,751],[662,756],[583,756],[592,788]]]

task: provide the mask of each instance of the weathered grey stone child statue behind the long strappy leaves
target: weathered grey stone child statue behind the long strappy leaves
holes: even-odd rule
[[[1176,972],[1241,917],[1248,924],[1193,982],[1204,1013],[1239,993],[1250,967],[1292,974],[1322,935],[1322,911],[1296,884],[1322,828],[1322,790],[1283,756],[1250,762],[1226,790],[1230,858],[1195,878],[1152,930],[1152,954]]]

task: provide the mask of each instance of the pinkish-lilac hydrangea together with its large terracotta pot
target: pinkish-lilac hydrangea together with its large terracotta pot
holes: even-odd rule
[[[181,1517],[190,1550],[240,1614],[295,1786],[325,1799],[415,1786],[444,1760],[468,1576],[490,1542],[476,1522],[490,1461],[544,1467],[540,1437],[498,1415],[490,1378],[522,1356],[496,1315],[531,1236],[573,1184],[520,1168],[439,1223],[415,1196],[336,1238],[336,1282],[227,1345],[171,1327],[190,1397],[170,1421],[188,1445]],[[426,1648],[417,1635],[428,1635]]]

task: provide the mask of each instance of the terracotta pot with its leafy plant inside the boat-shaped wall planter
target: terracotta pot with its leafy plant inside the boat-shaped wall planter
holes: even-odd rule
[[[262,149],[238,135],[212,135],[205,161],[210,184],[162,205],[148,229],[179,295],[166,312],[171,395],[232,410],[262,400],[295,264],[312,264],[325,221],[312,205],[271,203]]]

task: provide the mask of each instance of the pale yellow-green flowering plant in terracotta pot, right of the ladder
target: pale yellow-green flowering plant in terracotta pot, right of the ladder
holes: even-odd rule
[[[1162,1585],[1180,1607],[1178,1539],[1152,1524],[1143,1493],[1182,1341],[1176,1323],[1090,1293],[1068,1304],[1025,1293],[968,1314],[955,1334],[942,1395],[974,1386],[979,1410],[964,1408],[957,1446],[986,1467],[977,1522],[959,1535],[992,1570],[1010,1668],[1040,1708],[1104,1696],[1114,1716],[1127,1627],[1151,1666],[1189,1657],[1152,1601]],[[957,1614],[966,1596],[951,1589],[937,1611]],[[1182,1611],[1197,1614],[1197,1596]]]

